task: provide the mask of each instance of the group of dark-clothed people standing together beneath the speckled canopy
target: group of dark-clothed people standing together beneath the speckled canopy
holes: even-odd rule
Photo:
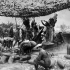
[[[38,25],[37,22],[35,22],[35,18],[33,18],[30,25],[29,18],[24,18],[22,27],[17,27],[16,36],[14,37],[13,27],[10,28],[9,36],[14,37],[18,43],[24,40],[34,40],[37,43],[41,43],[44,39],[46,42],[53,42],[54,26],[57,22],[57,14],[48,21],[41,20],[41,22],[43,27]],[[46,27],[45,31],[44,27]]]

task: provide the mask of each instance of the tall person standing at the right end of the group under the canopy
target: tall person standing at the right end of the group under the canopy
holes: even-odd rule
[[[54,26],[55,23],[57,22],[57,14],[55,14],[53,18],[50,18],[49,21],[44,20],[44,22],[46,22],[45,24],[43,23],[43,21],[41,22],[44,26],[46,26],[46,41],[48,38],[48,41],[52,42],[54,36]]]

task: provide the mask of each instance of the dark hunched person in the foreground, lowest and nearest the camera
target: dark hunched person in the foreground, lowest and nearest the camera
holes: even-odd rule
[[[38,70],[38,65],[43,66],[45,70],[48,70],[52,67],[50,54],[45,50],[44,45],[42,44],[42,48],[40,48],[39,55],[34,60],[35,68]]]

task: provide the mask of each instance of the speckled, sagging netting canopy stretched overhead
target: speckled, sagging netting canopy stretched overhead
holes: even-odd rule
[[[0,0],[0,15],[11,17],[44,16],[67,8],[67,0]]]

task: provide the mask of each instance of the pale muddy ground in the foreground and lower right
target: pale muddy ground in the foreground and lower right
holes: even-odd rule
[[[57,60],[59,60],[62,64],[65,65],[65,68],[63,70],[69,70],[70,68],[70,60],[66,59],[64,55],[67,54],[67,44],[63,43],[62,45],[59,45],[58,47],[52,47],[50,49],[47,49],[49,53],[54,53],[55,55],[51,58],[52,63],[55,64],[54,70],[61,70],[57,66]],[[31,56],[31,62],[37,57],[38,52],[35,52]],[[13,63],[13,64],[0,64],[0,70],[35,70],[33,65],[27,64],[27,63]]]

